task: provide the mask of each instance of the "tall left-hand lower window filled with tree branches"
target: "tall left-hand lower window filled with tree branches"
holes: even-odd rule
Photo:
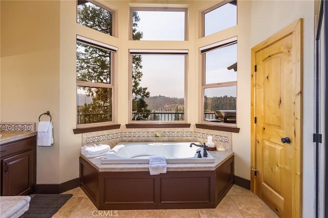
[[[111,122],[117,48],[81,36],[76,40],[77,125]]]

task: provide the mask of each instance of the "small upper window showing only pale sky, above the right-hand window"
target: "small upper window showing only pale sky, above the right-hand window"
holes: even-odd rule
[[[203,36],[237,25],[237,1],[216,6],[202,13]]]

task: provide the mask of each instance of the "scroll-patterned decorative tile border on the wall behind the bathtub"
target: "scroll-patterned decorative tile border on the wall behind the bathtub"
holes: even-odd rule
[[[106,141],[111,139],[118,139],[118,138],[141,138],[141,137],[154,137],[154,134],[157,132],[122,132],[122,133],[113,133],[101,136],[92,136],[88,137],[85,140],[85,143],[95,143],[100,141]],[[198,132],[161,132],[162,137],[197,137],[202,139],[207,139],[208,136],[213,137],[213,141],[229,143],[229,137],[227,136],[220,136],[220,135],[213,135],[213,134],[206,134],[206,133],[198,133]]]

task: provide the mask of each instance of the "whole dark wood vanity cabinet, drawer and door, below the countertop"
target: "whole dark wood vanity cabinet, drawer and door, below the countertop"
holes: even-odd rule
[[[36,183],[36,136],[0,145],[1,195],[26,195]]]

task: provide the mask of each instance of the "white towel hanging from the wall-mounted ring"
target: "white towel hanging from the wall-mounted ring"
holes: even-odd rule
[[[37,126],[37,146],[50,146],[53,144],[53,125],[50,121],[40,121]]]

